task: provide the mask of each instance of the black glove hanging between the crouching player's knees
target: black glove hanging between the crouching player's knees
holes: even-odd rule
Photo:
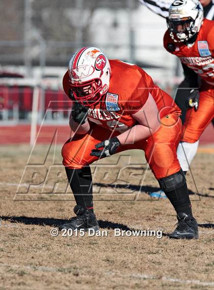
[[[117,137],[114,137],[112,139],[108,139],[105,141],[102,141],[101,143],[98,143],[95,145],[97,149],[91,150],[90,155],[91,156],[97,156],[97,157],[109,157],[112,154],[114,154],[118,147],[120,147],[120,141]],[[98,150],[98,148],[104,147],[101,150]]]

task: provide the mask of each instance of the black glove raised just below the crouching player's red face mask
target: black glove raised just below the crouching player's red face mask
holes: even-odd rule
[[[75,100],[71,90],[69,91],[69,98],[73,101],[72,119],[78,124],[84,124],[87,121],[88,108]]]

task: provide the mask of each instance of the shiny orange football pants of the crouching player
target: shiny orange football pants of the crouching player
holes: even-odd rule
[[[174,174],[180,170],[177,159],[177,146],[182,132],[181,120],[176,113],[161,119],[161,127],[147,140],[127,144],[118,148],[118,152],[130,149],[141,149],[145,152],[148,162],[156,179]],[[74,135],[62,148],[63,165],[71,169],[80,169],[98,160],[91,156],[95,145],[106,139],[118,136],[118,131],[112,132],[95,123],[91,123],[89,133]]]

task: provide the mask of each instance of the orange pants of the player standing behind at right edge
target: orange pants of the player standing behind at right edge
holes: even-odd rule
[[[195,143],[214,117],[214,87],[202,82],[199,107],[186,112],[181,141]]]

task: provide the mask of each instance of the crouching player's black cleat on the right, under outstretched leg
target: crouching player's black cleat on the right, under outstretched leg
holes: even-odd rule
[[[186,214],[177,216],[176,229],[169,234],[171,239],[198,239],[198,223],[196,219]]]

